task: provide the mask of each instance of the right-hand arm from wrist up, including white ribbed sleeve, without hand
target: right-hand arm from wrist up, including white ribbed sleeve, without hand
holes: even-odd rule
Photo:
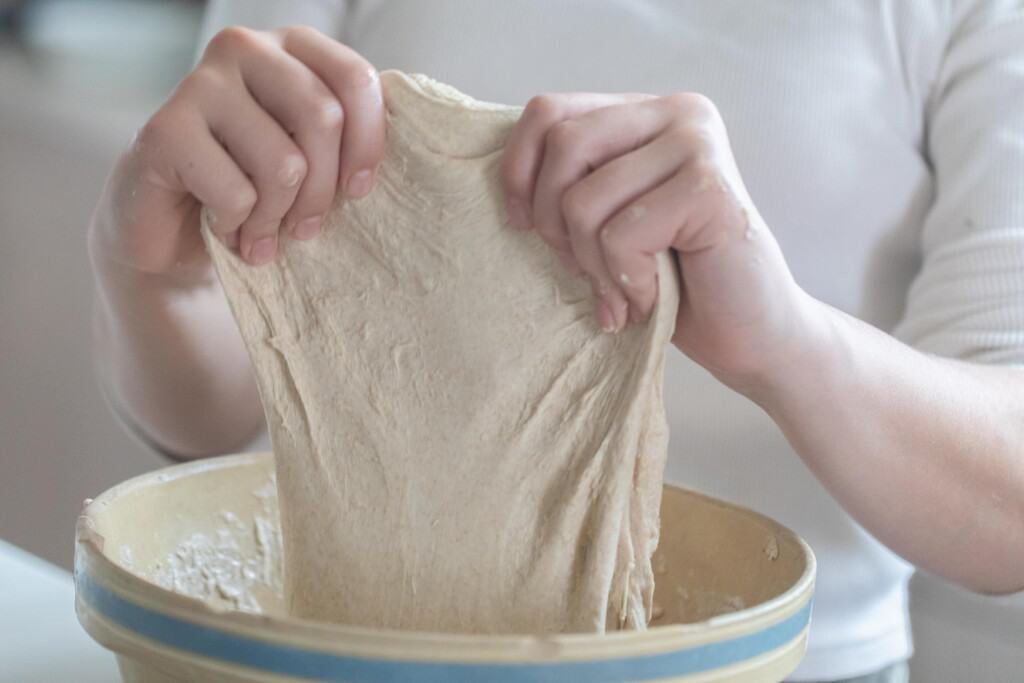
[[[813,302],[804,357],[752,395],[879,540],[1006,593],[1024,589],[1024,368],[1008,367],[1024,366],[1019,3],[961,17],[931,104],[937,195],[895,337]]]

